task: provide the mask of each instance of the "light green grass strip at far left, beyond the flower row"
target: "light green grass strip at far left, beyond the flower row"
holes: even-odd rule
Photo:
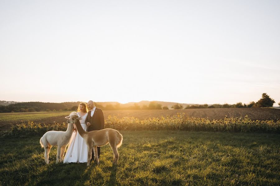
[[[55,116],[68,116],[72,111],[63,112],[34,112],[34,113],[0,113],[0,122],[13,122],[21,120],[38,120]]]

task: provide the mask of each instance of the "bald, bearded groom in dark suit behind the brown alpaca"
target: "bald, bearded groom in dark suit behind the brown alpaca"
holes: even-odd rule
[[[86,125],[88,126],[87,131],[97,131],[104,129],[104,114],[100,108],[96,108],[93,101],[87,102],[87,107],[89,109],[86,117]],[[98,159],[100,158],[100,147],[97,147]],[[91,157],[94,157],[94,152],[92,150]],[[94,158],[93,158],[94,159]]]

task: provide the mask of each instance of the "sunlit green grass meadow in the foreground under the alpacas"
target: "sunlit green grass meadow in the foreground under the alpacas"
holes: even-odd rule
[[[109,145],[100,165],[44,163],[41,136],[0,141],[0,185],[279,185],[280,136],[121,131],[118,166]]]

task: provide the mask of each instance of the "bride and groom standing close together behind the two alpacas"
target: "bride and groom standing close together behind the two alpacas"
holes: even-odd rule
[[[77,114],[82,119],[81,126],[85,131],[96,131],[104,129],[104,114],[100,108],[96,108],[93,101],[89,101],[87,105],[80,103]],[[87,162],[87,145],[81,135],[79,135],[76,126],[72,133],[67,152],[63,163],[84,163]],[[100,147],[97,147],[98,158],[100,158]],[[92,150],[92,157],[94,152]]]

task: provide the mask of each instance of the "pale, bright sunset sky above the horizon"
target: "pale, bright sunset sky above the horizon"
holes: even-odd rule
[[[0,1],[0,100],[280,102],[280,1]]]

